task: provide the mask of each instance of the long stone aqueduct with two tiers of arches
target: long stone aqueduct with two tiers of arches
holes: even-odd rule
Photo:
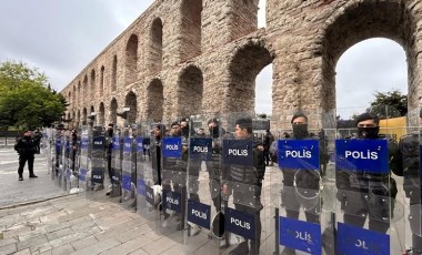
[[[258,73],[272,63],[272,115],[335,109],[335,64],[382,37],[403,47],[409,108],[422,98],[422,1],[155,0],[63,90],[72,124],[253,111]],[[263,0],[261,0],[263,1]],[[363,92],[371,93],[371,91]],[[288,116],[284,118],[288,120]]]

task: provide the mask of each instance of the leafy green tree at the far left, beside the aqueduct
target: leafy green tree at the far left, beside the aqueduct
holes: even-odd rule
[[[0,63],[0,126],[48,126],[61,121],[66,100],[48,78],[22,62]]]

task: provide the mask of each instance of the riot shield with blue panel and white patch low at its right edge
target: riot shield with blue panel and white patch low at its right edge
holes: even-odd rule
[[[137,211],[159,230],[161,206],[161,140],[165,126],[152,121],[138,125]]]

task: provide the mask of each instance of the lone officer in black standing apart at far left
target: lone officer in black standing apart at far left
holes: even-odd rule
[[[36,154],[36,143],[32,139],[32,132],[30,130],[26,130],[23,132],[23,137],[20,137],[14,143],[14,150],[19,153],[19,181],[23,181],[23,167],[24,164],[28,161],[28,170],[29,170],[29,177],[36,178],[38,177],[33,173],[33,160]]]

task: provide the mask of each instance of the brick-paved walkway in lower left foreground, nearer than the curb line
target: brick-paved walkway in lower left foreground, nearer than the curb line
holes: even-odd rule
[[[3,208],[0,217],[0,254],[183,254],[137,213],[81,195]]]

